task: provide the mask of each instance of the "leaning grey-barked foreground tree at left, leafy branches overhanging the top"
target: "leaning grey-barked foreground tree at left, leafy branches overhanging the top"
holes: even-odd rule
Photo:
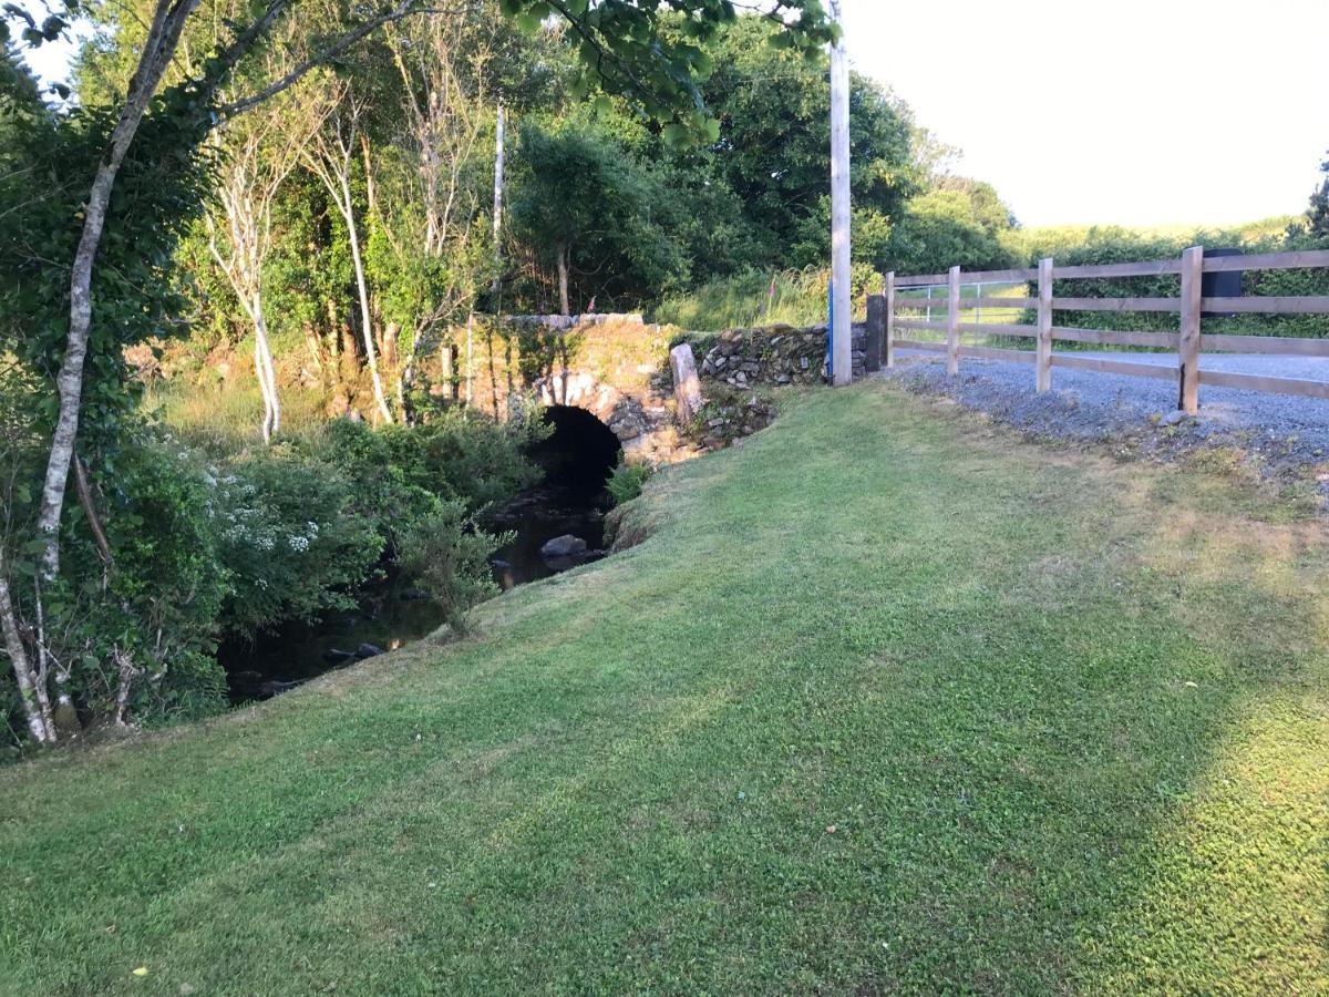
[[[0,15],[0,44],[8,43],[11,23],[25,24],[20,31],[28,44],[58,37],[76,9],[73,3],[66,3],[40,25],[17,5],[5,7]],[[51,444],[36,516],[35,541],[40,569],[33,580],[36,627],[31,635],[19,626],[19,610],[13,606],[15,568],[8,557],[0,562],[0,572],[7,576],[5,600],[0,601],[7,657],[16,674],[21,671],[29,685],[36,681],[45,683],[47,675],[53,674],[57,714],[61,710],[69,714],[73,706],[66,687],[68,665],[48,667],[53,647],[48,639],[53,633],[49,625],[56,621],[48,618],[47,609],[58,604],[48,601],[45,596],[61,586],[65,497],[85,415],[89,356],[94,375],[93,395],[114,395],[117,391],[124,393],[124,364],[114,351],[125,344],[126,336],[137,336],[137,342],[144,342],[159,328],[162,319],[174,318],[170,303],[165,314],[157,307],[162,298],[155,288],[134,283],[125,275],[136,269],[150,270],[155,255],[145,255],[144,249],[173,249],[185,223],[197,211],[197,205],[202,201],[201,191],[191,190],[191,186],[199,173],[199,150],[207,133],[219,121],[283,93],[310,70],[364,40],[384,24],[425,9],[420,0],[399,0],[392,7],[372,11],[356,8],[361,15],[360,20],[331,40],[311,45],[308,57],[282,76],[258,85],[245,96],[222,100],[221,93],[231,81],[237,65],[251,52],[260,49],[271,39],[275,25],[290,11],[298,9],[298,4],[296,0],[260,0],[241,19],[219,19],[217,33],[207,45],[207,55],[191,55],[190,65],[183,68],[179,78],[166,85],[167,70],[175,65],[181,41],[199,3],[201,0],[153,0],[148,17],[144,19],[138,55],[130,60],[134,68],[125,96],[117,97],[110,108],[80,106],[65,117],[54,116],[33,104],[31,76],[24,81],[16,53],[7,47],[0,57],[4,64],[0,100],[5,101],[0,112],[17,109],[17,113],[28,116],[32,134],[43,140],[41,148],[33,149],[36,158],[47,157],[49,164],[52,153],[58,153],[62,148],[60,175],[78,173],[82,165],[82,175],[88,177],[88,186],[82,190],[58,185],[56,191],[40,193],[33,198],[36,207],[29,207],[27,199],[13,202],[19,205],[13,211],[17,221],[8,222],[9,234],[20,238],[11,239],[4,234],[4,247],[16,250],[17,255],[32,255],[25,247],[33,238],[48,250],[41,261],[45,269],[43,279],[29,287],[7,286],[7,304],[25,300],[29,306],[25,314],[64,316],[40,330],[39,335],[31,336],[37,347],[36,351],[27,350],[29,360],[39,359],[35,352],[43,352],[43,363],[35,364],[33,371],[44,374],[58,368],[54,379],[56,415],[49,427]],[[707,65],[704,53],[694,41],[712,37],[720,24],[735,19],[734,5],[727,0],[666,0],[663,4],[655,0],[605,0],[595,5],[583,0],[505,0],[502,5],[506,13],[532,28],[538,28],[550,12],[566,20],[569,29],[579,40],[578,52],[583,61],[583,73],[575,82],[578,89],[598,84],[610,92],[631,94],[647,113],[668,122],[663,134],[671,144],[684,142],[692,136],[714,134],[714,124],[696,100],[696,80]],[[664,21],[670,13],[675,20],[670,21],[670,31],[666,31]],[[787,44],[812,52],[832,37],[833,29],[827,24],[816,0],[776,0],[767,11],[768,17],[781,24],[785,19],[792,20],[792,15],[797,15],[792,29],[788,35],[781,35]],[[209,33],[201,32],[201,36],[209,37]],[[150,141],[145,142],[145,136]],[[350,148],[344,141],[347,138],[342,133],[343,149]],[[145,145],[149,148],[145,149]],[[24,173],[17,179],[7,175],[7,182],[24,182],[31,175],[29,166],[21,166]],[[153,179],[158,183],[154,185]],[[154,190],[154,186],[159,189]],[[69,194],[77,198],[77,211],[69,210]],[[193,206],[178,205],[179,194],[193,194]],[[169,210],[173,215],[159,214],[167,203],[171,205]],[[74,233],[70,233],[69,218],[77,222]],[[136,226],[142,227],[145,222],[154,226],[146,233],[145,245],[126,241],[126,234],[133,233]],[[110,238],[106,238],[108,230]],[[76,235],[73,245],[62,245],[70,234]],[[69,261],[68,270],[60,270],[62,261]],[[56,266],[51,266],[52,262]],[[52,282],[52,273],[62,279]],[[100,296],[94,296],[94,292]],[[94,335],[98,327],[108,330],[101,342]],[[57,344],[52,342],[52,331],[57,335]],[[56,348],[52,350],[52,346]],[[94,352],[93,346],[97,347]],[[49,363],[52,359],[56,363]],[[376,387],[381,403],[381,387]],[[112,413],[113,409],[112,403],[105,413]],[[98,419],[102,417],[102,409],[93,411]],[[101,428],[113,433],[110,424]],[[24,649],[24,654],[17,657],[17,645],[9,639],[13,634],[17,634]],[[29,647],[35,653],[35,662],[27,653]],[[29,719],[33,711],[39,711],[35,699],[36,697],[24,699]],[[58,735],[57,730],[44,722],[31,723],[31,730],[43,742]]]

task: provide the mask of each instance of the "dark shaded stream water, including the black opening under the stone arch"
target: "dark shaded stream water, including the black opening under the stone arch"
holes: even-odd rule
[[[582,409],[554,407],[545,419],[554,432],[530,455],[544,469],[544,481],[484,520],[494,533],[516,533],[490,560],[494,581],[505,592],[603,557],[605,479],[618,459],[618,440]],[[562,536],[586,541],[587,553],[563,560],[541,554],[545,544]],[[316,625],[288,623],[253,643],[225,643],[218,659],[226,669],[231,702],[239,705],[268,699],[326,671],[396,650],[428,637],[441,623],[439,608],[407,582],[367,598],[354,611],[330,613]]]

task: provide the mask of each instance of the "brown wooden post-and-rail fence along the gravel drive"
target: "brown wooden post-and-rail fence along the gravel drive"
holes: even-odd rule
[[[1205,258],[1204,247],[1192,246],[1180,259],[1158,259],[1144,263],[1100,263],[1088,266],[1059,267],[1051,259],[1043,259],[1038,267],[1029,270],[987,270],[962,273],[952,267],[948,274],[928,274],[918,277],[897,277],[886,274],[885,294],[876,302],[869,300],[873,312],[869,327],[884,324],[882,360],[886,367],[894,367],[896,350],[922,350],[946,356],[948,374],[958,374],[960,359],[965,356],[1027,363],[1034,367],[1034,387],[1049,391],[1053,387],[1053,368],[1099,371],[1102,374],[1126,374],[1136,378],[1159,378],[1176,380],[1177,407],[1195,415],[1200,404],[1200,386],[1212,384],[1224,388],[1244,388],[1247,391],[1268,391],[1282,395],[1309,395],[1329,399],[1329,382],[1304,380],[1297,378],[1268,378],[1253,374],[1232,374],[1225,371],[1201,371],[1203,351],[1228,354],[1278,354],[1285,356],[1329,356],[1329,339],[1309,339],[1300,336],[1259,336],[1221,335],[1203,331],[1205,312],[1223,315],[1264,314],[1264,315],[1329,315],[1329,296],[1229,296],[1205,298],[1201,292],[1204,274],[1224,274],[1248,270],[1294,270],[1329,267],[1329,250],[1308,250],[1301,253],[1265,253],[1259,255],[1213,255]],[[1054,280],[1088,280],[1102,278],[1179,275],[1181,294],[1179,298],[1069,298],[1053,296]],[[961,298],[962,283],[1019,283],[1037,288],[1033,298]],[[921,318],[901,316],[905,311],[930,310],[938,300],[921,298],[901,298],[897,291],[908,288],[922,290],[945,284],[946,320],[928,322]],[[979,292],[981,295],[981,292]],[[1035,324],[965,322],[961,312],[978,308],[1022,308],[1037,315]],[[1071,328],[1054,323],[1058,311],[1106,311],[1106,312],[1174,312],[1179,315],[1176,332],[1126,332],[1096,328]],[[877,318],[880,316],[880,318]],[[876,319],[873,322],[872,319]],[[900,339],[897,331],[936,331],[945,334],[944,343],[918,339]],[[1015,336],[1035,340],[1035,348],[998,350],[982,346],[964,346],[961,332],[981,332],[990,336]],[[1106,359],[1076,356],[1055,352],[1057,340],[1074,343],[1102,343],[1110,346],[1162,347],[1176,351],[1176,366],[1139,363],[1130,359]],[[1124,354],[1128,356],[1128,354]]]

